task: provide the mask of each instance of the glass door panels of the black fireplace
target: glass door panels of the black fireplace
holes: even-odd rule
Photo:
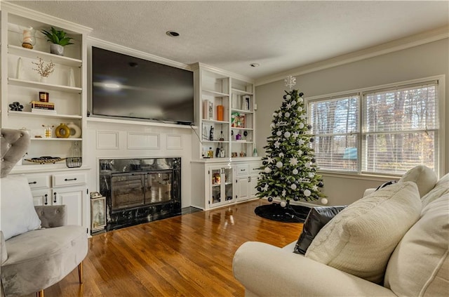
[[[112,211],[170,201],[171,180],[171,171],[112,174]]]

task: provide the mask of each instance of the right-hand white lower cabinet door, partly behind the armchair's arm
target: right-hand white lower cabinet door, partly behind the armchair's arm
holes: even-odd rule
[[[53,189],[53,205],[65,204],[67,225],[83,224],[83,197],[86,187],[60,187]]]

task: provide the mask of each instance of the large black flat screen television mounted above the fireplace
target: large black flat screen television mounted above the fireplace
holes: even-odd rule
[[[194,122],[189,70],[92,47],[92,116]]]

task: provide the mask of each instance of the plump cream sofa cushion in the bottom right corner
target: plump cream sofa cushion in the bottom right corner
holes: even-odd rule
[[[448,296],[449,193],[422,209],[394,250],[384,286],[398,296]]]

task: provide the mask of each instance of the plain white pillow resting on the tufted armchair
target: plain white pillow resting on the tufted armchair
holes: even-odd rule
[[[1,231],[5,240],[41,227],[25,176],[1,178]]]

